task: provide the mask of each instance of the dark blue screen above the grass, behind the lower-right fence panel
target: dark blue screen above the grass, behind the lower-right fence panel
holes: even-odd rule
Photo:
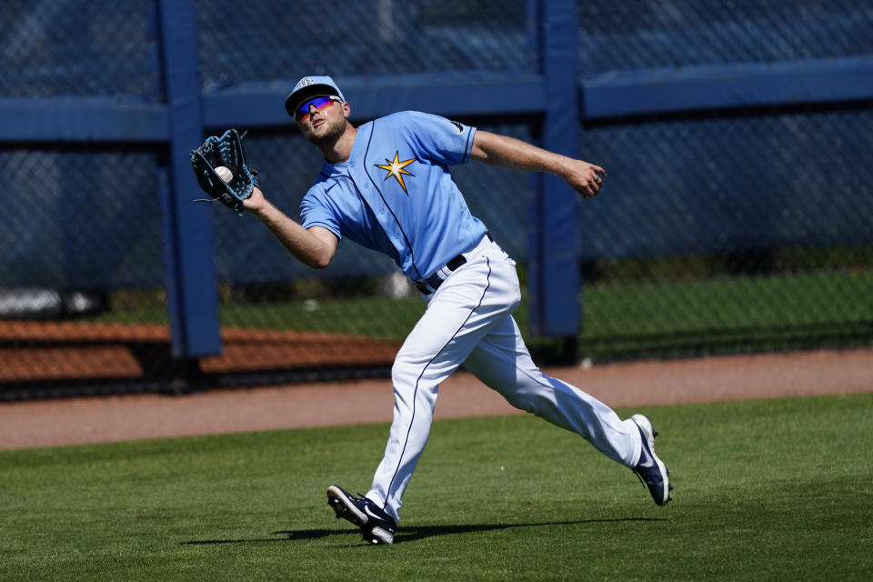
[[[863,108],[588,127],[610,176],[583,205],[583,255],[869,245],[871,130]]]

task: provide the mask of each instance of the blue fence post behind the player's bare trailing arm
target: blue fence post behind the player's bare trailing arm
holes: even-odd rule
[[[541,145],[576,157],[577,2],[541,0],[537,8],[539,30],[533,34],[539,41],[547,95]],[[534,179],[537,190],[530,208],[529,241],[531,324],[539,335],[575,340],[581,326],[578,195],[557,176]]]

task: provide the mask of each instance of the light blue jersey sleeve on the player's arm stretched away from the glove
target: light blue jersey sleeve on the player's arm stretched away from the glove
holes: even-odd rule
[[[421,156],[447,166],[466,164],[470,160],[476,127],[439,115],[417,111],[406,113],[407,127],[413,134],[411,137],[414,143],[421,150]]]

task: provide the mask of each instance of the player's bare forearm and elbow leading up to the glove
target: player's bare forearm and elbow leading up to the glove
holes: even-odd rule
[[[336,235],[321,226],[306,229],[273,206],[257,186],[246,199],[246,210],[257,216],[289,253],[304,265],[323,269],[336,254]]]

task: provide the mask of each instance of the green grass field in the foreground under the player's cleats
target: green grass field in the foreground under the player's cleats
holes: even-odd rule
[[[2,451],[0,579],[868,580],[871,409],[648,407],[667,507],[537,418],[439,421],[393,547],[324,493],[366,489],[386,425]]]

